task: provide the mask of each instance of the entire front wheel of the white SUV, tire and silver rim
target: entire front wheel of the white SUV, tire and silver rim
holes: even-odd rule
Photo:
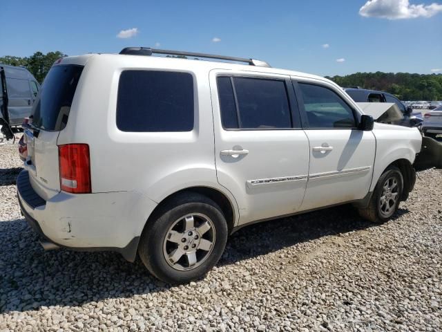
[[[396,166],[385,169],[374,188],[367,208],[358,209],[359,214],[373,223],[383,223],[398,209],[403,192],[403,176]]]

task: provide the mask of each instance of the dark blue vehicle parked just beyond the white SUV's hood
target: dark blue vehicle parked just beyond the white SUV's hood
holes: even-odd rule
[[[396,104],[399,111],[403,114],[403,118],[397,120],[390,120],[385,117],[375,119],[378,120],[378,122],[398,124],[405,127],[420,127],[423,122],[421,112],[414,112],[411,107],[405,106],[401,100],[398,100],[398,98],[394,97],[391,93],[361,88],[343,89],[355,102],[392,102]]]

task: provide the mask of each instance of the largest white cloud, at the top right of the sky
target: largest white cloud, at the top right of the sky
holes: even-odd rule
[[[442,4],[410,5],[409,0],[369,0],[359,10],[363,17],[381,19],[415,19],[416,17],[432,17],[442,12]]]

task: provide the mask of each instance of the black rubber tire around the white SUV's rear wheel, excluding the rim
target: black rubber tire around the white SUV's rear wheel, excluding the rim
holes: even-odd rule
[[[208,251],[206,258],[198,267],[191,270],[176,270],[166,261],[163,252],[166,246],[164,240],[174,223],[189,214],[204,214],[204,216],[209,217],[215,229],[213,233],[215,240],[211,246],[211,251]],[[155,213],[152,220],[148,221],[140,238],[138,254],[144,266],[158,279],[170,284],[185,284],[200,279],[215,266],[222,252],[224,252],[227,235],[227,221],[220,207],[206,196],[186,192],[178,194],[164,204]]]

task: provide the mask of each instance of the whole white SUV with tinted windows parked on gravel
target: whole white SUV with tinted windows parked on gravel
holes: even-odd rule
[[[153,53],[217,57],[126,48],[50,69],[17,180],[45,248],[138,252],[189,282],[244,225],[350,202],[386,221],[412,190],[418,129],[374,123],[333,82]]]

